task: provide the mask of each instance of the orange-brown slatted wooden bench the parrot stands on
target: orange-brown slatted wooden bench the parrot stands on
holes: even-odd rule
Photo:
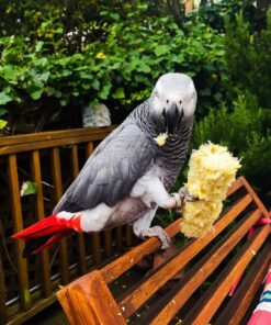
[[[214,232],[190,240],[121,296],[113,296],[111,283],[156,251],[157,238],[64,287],[57,298],[70,324],[242,324],[257,303],[271,262],[270,224],[257,227],[250,239],[247,234],[259,218],[270,215],[242,177],[228,191],[227,205]],[[170,237],[179,234],[180,222],[166,228]],[[183,278],[161,294],[159,289],[180,270]]]

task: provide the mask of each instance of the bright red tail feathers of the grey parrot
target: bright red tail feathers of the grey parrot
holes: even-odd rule
[[[24,250],[25,256],[29,254],[37,254],[44,248],[50,247],[59,242],[63,237],[70,235],[72,231],[81,232],[80,218],[81,215],[78,214],[75,214],[70,218],[57,217],[57,214],[53,214],[12,235],[12,238],[26,242]]]

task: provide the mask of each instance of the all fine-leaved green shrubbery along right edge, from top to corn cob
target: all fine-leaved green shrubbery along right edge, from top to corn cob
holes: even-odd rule
[[[227,103],[196,123],[193,146],[207,139],[242,157],[241,175],[258,190],[271,183],[271,11],[266,27],[255,32],[241,14],[226,19]]]

